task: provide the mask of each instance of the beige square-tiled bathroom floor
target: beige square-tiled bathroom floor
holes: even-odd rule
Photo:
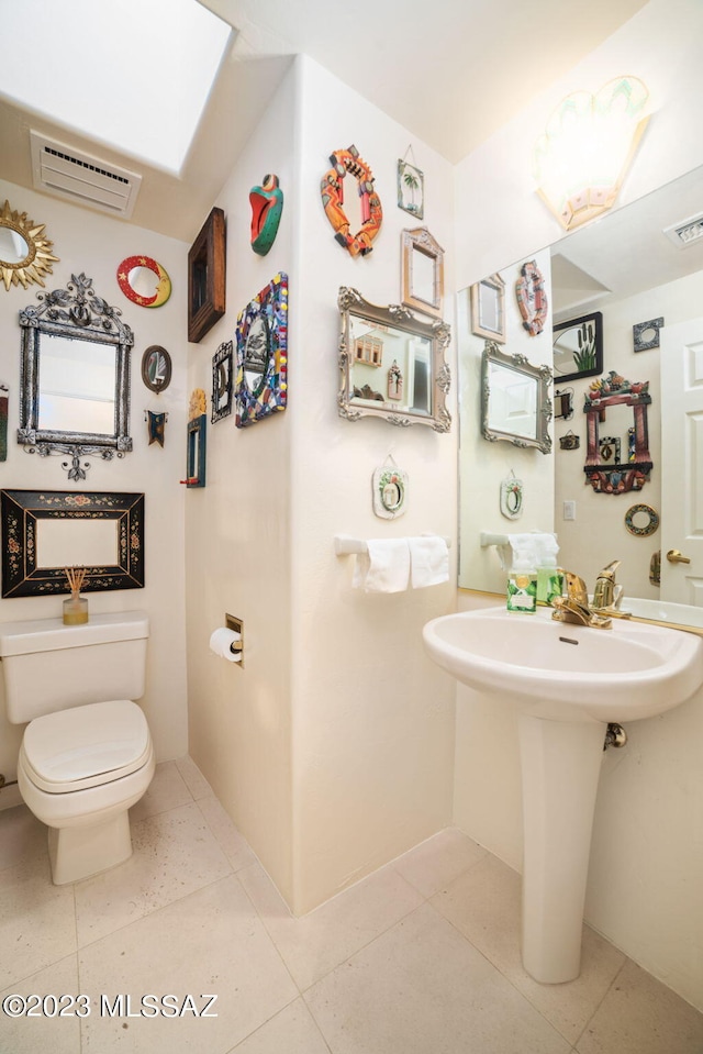
[[[458,831],[303,919],[189,758],[158,766],[132,833],[125,864],[57,887],[42,824],[0,812],[0,998],[91,1010],[0,1011],[0,1054],[703,1052],[703,1014],[588,928],[578,980],[533,981],[520,878]]]

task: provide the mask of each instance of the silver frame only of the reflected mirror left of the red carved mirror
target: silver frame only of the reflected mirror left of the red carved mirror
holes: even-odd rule
[[[527,378],[535,386],[535,428],[534,436],[524,433],[511,432],[509,429],[496,428],[491,418],[491,367],[502,366]],[[510,355],[494,343],[487,341],[481,359],[481,433],[484,440],[506,440],[514,446],[536,446],[543,454],[551,452],[551,436],[548,425],[553,417],[549,389],[551,385],[551,368],[549,366],[533,366],[524,355]]]

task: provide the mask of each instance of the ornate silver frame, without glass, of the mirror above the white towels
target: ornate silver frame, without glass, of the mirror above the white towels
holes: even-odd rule
[[[448,432],[451,415],[446,408],[446,396],[451,386],[451,374],[445,359],[446,348],[451,340],[451,328],[440,319],[417,319],[402,304],[379,307],[370,303],[356,289],[342,286],[337,298],[342,317],[339,334],[339,393],[337,407],[339,415],[348,421],[358,421],[362,417],[380,417],[389,424],[409,428],[411,424],[427,424],[435,432]],[[431,376],[428,378],[429,408],[425,412],[394,407],[393,402],[379,400],[378,404],[354,395],[354,348],[352,347],[352,321],[358,318],[388,330],[399,331],[411,337],[427,340],[431,346]],[[392,369],[392,367],[390,367]]]

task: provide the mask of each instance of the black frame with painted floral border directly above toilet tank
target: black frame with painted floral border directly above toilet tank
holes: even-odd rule
[[[38,520],[114,520],[116,563],[88,567],[81,592],[144,588],[144,495],[2,490],[2,597],[70,592],[63,567],[36,559]]]

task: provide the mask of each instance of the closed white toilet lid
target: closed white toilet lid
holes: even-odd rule
[[[131,699],[93,702],[35,718],[22,741],[27,776],[49,794],[127,776],[145,764],[150,748],[146,718]]]

